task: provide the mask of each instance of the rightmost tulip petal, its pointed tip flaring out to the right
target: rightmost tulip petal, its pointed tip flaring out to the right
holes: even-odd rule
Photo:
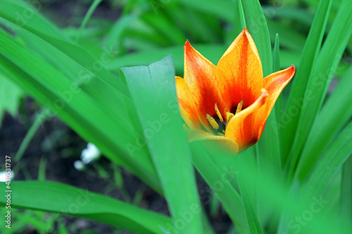
[[[279,97],[282,89],[289,84],[292,77],[294,77],[295,67],[291,65],[291,67],[281,70],[279,72],[272,73],[265,77],[264,79],[264,89],[266,89],[269,93],[269,96],[266,100],[267,105],[265,108],[265,118],[268,118],[272,108],[275,105],[277,98]]]

